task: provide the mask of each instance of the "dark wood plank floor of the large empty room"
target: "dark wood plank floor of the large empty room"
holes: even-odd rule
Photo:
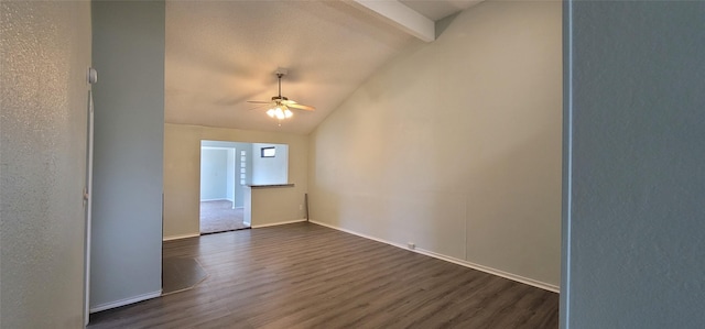
[[[164,243],[193,289],[94,314],[89,328],[557,328],[558,295],[313,223]]]

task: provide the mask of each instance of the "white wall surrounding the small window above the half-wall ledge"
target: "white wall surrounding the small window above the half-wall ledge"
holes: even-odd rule
[[[274,157],[262,157],[262,147],[274,147]],[[289,183],[289,146],[252,143],[252,185]]]

